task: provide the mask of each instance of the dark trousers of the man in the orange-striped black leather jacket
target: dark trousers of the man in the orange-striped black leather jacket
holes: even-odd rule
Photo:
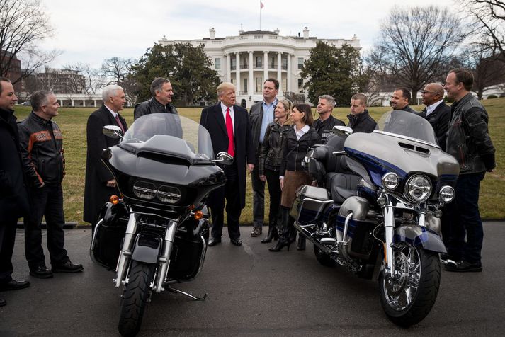
[[[45,265],[44,250],[42,249],[42,231],[40,223],[42,216],[47,224],[47,250],[52,265],[69,261],[67,251],[63,248],[65,233],[63,225],[63,190],[62,185],[45,185],[31,190],[32,212],[24,218],[25,224],[25,255],[28,266],[35,268]]]

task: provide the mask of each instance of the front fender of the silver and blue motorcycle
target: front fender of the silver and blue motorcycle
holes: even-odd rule
[[[426,227],[414,224],[400,226],[395,231],[395,244],[407,242],[416,247],[421,247],[427,251],[436,251],[437,253],[447,253],[446,246],[442,239],[436,233],[431,232]]]

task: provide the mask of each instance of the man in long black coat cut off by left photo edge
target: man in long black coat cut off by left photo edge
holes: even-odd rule
[[[0,291],[28,287],[28,281],[11,277],[12,253],[18,217],[28,215],[29,202],[19,149],[14,105],[18,98],[11,81],[0,77]],[[6,304],[0,298],[0,307]]]

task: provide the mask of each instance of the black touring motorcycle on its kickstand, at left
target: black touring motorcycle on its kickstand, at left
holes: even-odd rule
[[[206,198],[225,184],[217,163],[231,164],[233,158],[220,152],[214,159],[208,131],[169,113],[138,118],[124,136],[112,125],[103,127],[103,134],[122,138],[102,155],[120,195],[111,196],[101,210],[90,254],[115,270],[115,287],[123,285],[119,332],[135,336],[153,292],[206,298],[171,284],[193,280],[203,266],[209,238]]]

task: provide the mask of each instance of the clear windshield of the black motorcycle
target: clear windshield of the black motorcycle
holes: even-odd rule
[[[152,113],[137,118],[119,147],[186,156],[192,161],[210,161],[214,151],[209,132],[194,120],[173,113]]]

